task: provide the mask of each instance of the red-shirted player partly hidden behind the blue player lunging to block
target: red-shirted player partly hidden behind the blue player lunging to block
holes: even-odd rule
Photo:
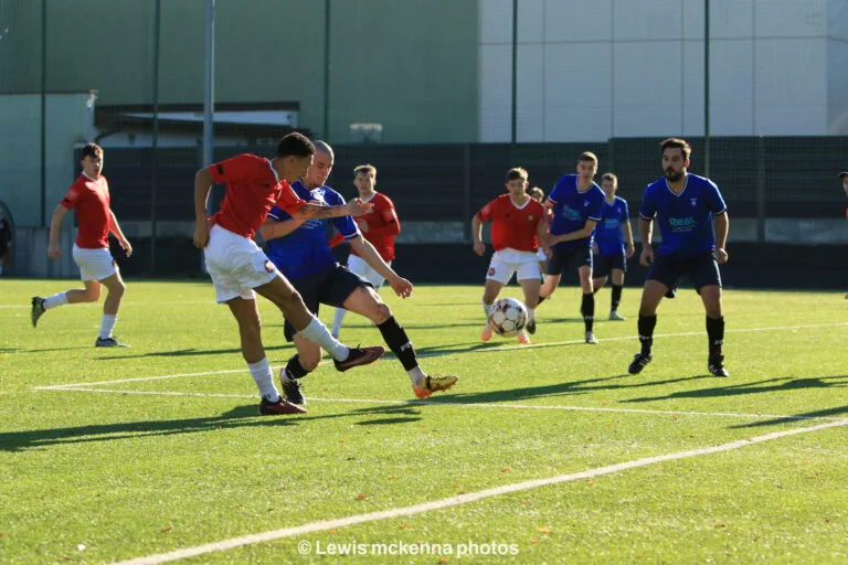
[[[321,182],[324,184],[324,182]],[[390,267],[394,259],[394,236],[401,233],[401,222],[394,211],[394,203],[385,194],[374,190],[377,184],[377,167],[373,164],[360,164],[353,168],[353,184],[357,186],[362,202],[374,205],[374,210],[368,214],[358,216],[354,221],[368,243],[374,246],[377,253]],[[368,280],[380,292],[385,277],[371,267],[360,255],[356,247],[351,247],[348,257],[348,269],[354,275]],[[348,311],[344,308],[336,308],[332,320],[332,334],[338,338],[341,323]]]

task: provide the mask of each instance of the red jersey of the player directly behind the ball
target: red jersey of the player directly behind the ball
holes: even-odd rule
[[[519,252],[536,252],[539,248],[536,232],[539,222],[544,218],[544,209],[531,198],[518,207],[510,194],[501,194],[483,206],[477,212],[477,218],[480,222],[491,220],[491,246],[496,252],[507,247]]]

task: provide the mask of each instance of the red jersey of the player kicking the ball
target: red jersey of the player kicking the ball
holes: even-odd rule
[[[221,211],[212,216],[212,223],[250,239],[274,205],[294,213],[306,204],[262,157],[242,153],[213,164],[211,170],[213,181],[226,183]]]

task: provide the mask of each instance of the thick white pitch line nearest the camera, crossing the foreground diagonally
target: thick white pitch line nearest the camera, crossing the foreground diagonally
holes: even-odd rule
[[[730,441],[729,444],[722,444],[713,447],[691,449],[688,451],[678,451],[675,454],[660,455],[656,457],[646,457],[643,459],[635,459],[632,461],[625,461],[621,463],[608,465],[605,467],[598,467],[596,469],[589,469],[581,472],[560,475],[556,477],[549,477],[547,479],[536,479],[531,481],[516,482],[512,484],[505,484],[502,487],[486,489],[478,492],[470,492],[467,494],[458,494],[456,497],[434,500],[432,502],[425,502],[425,503],[415,504],[412,507],[394,508],[389,510],[382,510],[379,512],[369,512],[367,514],[338,518],[335,520],[322,520],[319,522],[311,522],[304,525],[284,527],[280,530],[273,530],[269,532],[263,532],[258,534],[248,534],[248,535],[243,535],[239,537],[231,537],[230,540],[222,540],[220,542],[197,545],[194,547],[186,547],[182,550],[176,550],[168,553],[159,553],[155,555],[148,555],[146,557],[137,557],[135,559],[121,561],[121,562],[118,562],[116,565],[156,565],[159,563],[167,563],[167,562],[172,562],[178,559],[184,559],[188,557],[195,557],[198,555],[204,555],[208,553],[223,552],[227,550],[233,550],[235,547],[242,547],[245,545],[251,545],[256,543],[273,542],[275,540],[283,540],[285,537],[293,537],[296,535],[307,535],[315,532],[324,532],[327,530],[347,527],[356,524],[362,524],[365,522],[375,522],[378,520],[386,520],[391,518],[410,516],[414,514],[421,514],[423,512],[431,512],[434,510],[442,510],[445,508],[468,504],[470,502],[476,502],[478,500],[484,500],[491,497],[500,497],[502,494],[509,494],[512,492],[521,492],[526,490],[538,489],[540,487],[549,487],[552,484],[573,482],[581,479],[592,479],[594,477],[617,473],[617,472],[626,471],[628,469],[647,467],[650,465],[657,465],[666,461],[674,461],[674,460],[686,459],[690,457],[699,457],[703,455],[731,451],[731,450],[740,449],[742,447],[746,447],[751,445],[772,441],[774,439],[781,439],[781,438],[794,436],[797,434],[806,434],[809,431],[818,431],[820,429],[845,426],[847,424],[848,424],[848,419],[841,419],[837,422],[819,424],[817,426],[789,429],[785,431],[775,431],[772,434],[750,437],[750,438],[740,439],[736,441]]]

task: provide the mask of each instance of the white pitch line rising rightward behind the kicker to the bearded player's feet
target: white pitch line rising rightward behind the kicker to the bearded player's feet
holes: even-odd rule
[[[738,330],[725,330],[725,333],[734,332],[734,333],[744,333],[744,332],[756,332],[756,331],[783,331],[783,330],[806,330],[806,329],[814,329],[814,328],[836,328],[841,326],[848,326],[848,322],[834,322],[834,323],[809,323],[804,326],[776,326],[771,328],[742,328]],[[693,332],[683,332],[683,333],[658,333],[654,335],[654,339],[657,338],[681,338],[687,335],[706,335],[706,331],[693,331]],[[604,340],[601,340],[602,343],[605,341],[625,341],[625,340],[636,340],[635,337],[628,335],[628,337],[619,337],[619,338],[606,338]],[[456,351],[441,351],[437,353],[422,353],[418,356],[420,358],[435,358],[435,356],[443,356],[443,355],[468,355],[474,353],[498,353],[501,351],[512,351],[512,350],[530,350],[533,348],[555,348],[558,345],[574,345],[577,343],[583,343],[583,340],[572,340],[572,341],[556,341],[551,343],[531,343],[529,345],[501,345],[498,348],[487,348],[487,349],[476,349],[476,350],[456,350]],[[220,375],[220,374],[229,374],[229,373],[240,373],[243,372],[244,369],[229,369],[225,371],[204,371],[201,373],[181,373],[176,375],[157,375],[157,376],[137,376],[131,379],[118,379],[115,381],[98,381],[95,383],[78,383],[78,384],[59,384],[59,385],[47,385],[47,386],[35,386],[34,390],[36,391],[52,391],[52,390],[68,390],[74,388],[78,386],[95,386],[95,385],[102,385],[102,384],[120,384],[120,383],[131,383],[136,381],[157,381],[161,379],[182,379],[186,376],[206,376],[206,375]]]

